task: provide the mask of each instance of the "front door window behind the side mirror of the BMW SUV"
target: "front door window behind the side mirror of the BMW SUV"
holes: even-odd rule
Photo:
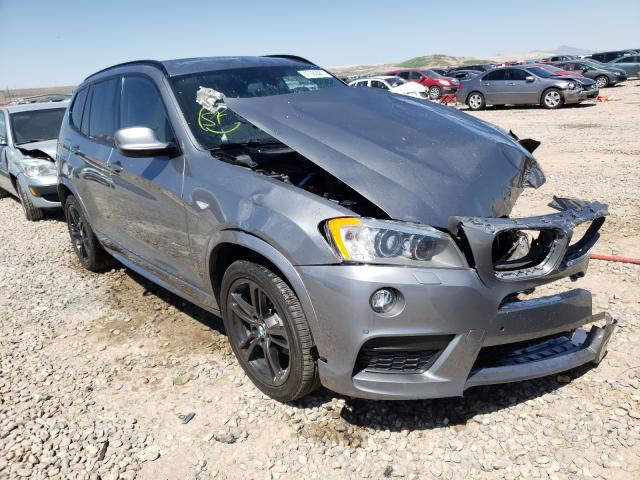
[[[125,77],[122,86],[120,128],[147,127],[161,142],[173,142],[171,124],[160,93],[151,80]]]

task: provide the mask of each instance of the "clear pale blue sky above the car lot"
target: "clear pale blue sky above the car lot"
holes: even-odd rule
[[[0,0],[0,88],[76,85],[136,59],[288,53],[329,67],[640,48],[639,25],[638,0]]]

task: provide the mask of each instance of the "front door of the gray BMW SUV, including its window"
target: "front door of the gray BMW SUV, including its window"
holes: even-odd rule
[[[122,79],[119,128],[148,127],[162,142],[176,143],[163,99],[146,76]],[[184,158],[127,157],[114,149],[109,162],[113,188],[109,219],[113,240],[130,260],[157,274],[193,280],[186,211],[182,204]],[[166,276],[164,278],[166,280]]]

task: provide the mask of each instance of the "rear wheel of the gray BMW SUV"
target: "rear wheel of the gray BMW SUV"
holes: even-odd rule
[[[92,272],[100,271],[109,265],[113,258],[100,245],[73,195],[69,195],[65,200],[64,216],[67,219],[71,244],[80,264]]]

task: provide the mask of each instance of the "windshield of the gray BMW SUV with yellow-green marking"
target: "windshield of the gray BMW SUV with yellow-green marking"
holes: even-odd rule
[[[171,82],[189,128],[207,149],[225,144],[276,142],[229,110],[225,97],[266,97],[346,87],[328,72],[312,65],[198,72],[172,78]]]

